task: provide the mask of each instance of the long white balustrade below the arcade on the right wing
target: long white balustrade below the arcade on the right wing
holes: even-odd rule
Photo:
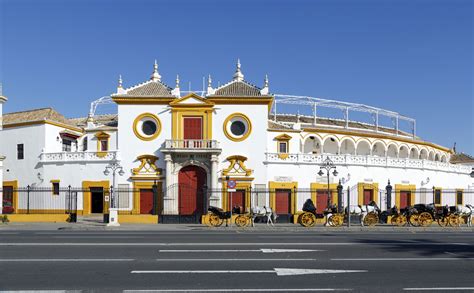
[[[266,153],[265,161],[266,163],[322,164],[324,159],[327,157],[329,157],[336,165],[426,169],[464,174],[469,174],[471,172],[471,168],[464,165],[420,159],[379,156],[288,154],[286,158],[281,158],[278,153]]]

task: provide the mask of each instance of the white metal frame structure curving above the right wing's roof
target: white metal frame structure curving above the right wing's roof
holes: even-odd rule
[[[333,108],[339,109],[343,111],[344,120],[345,120],[345,127],[349,127],[349,113],[350,111],[354,112],[365,112],[372,115],[374,120],[374,127],[376,131],[379,130],[379,116],[389,117],[394,121],[394,129],[396,130],[396,134],[399,135],[399,122],[406,121],[411,124],[412,126],[412,135],[413,137],[416,136],[416,120],[404,115],[401,115],[394,111],[389,111],[377,107],[372,107],[364,104],[358,103],[350,103],[350,102],[343,102],[343,101],[336,101],[336,100],[329,100],[323,98],[315,98],[310,96],[294,96],[294,95],[283,95],[283,94],[274,94],[274,102],[273,102],[273,115],[274,120],[277,120],[277,105],[278,104],[289,104],[289,105],[299,105],[299,106],[309,106],[312,108],[313,111],[313,123],[317,124],[317,109],[318,107],[322,108]]]

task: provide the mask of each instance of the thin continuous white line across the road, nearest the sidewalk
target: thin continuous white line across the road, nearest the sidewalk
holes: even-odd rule
[[[267,242],[267,243],[238,243],[238,242],[223,242],[223,243],[160,243],[160,242],[104,242],[104,243],[95,243],[95,242],[58,242],[58,243],[48,243],[48,242],[2,242],[0,246],[373,246],[373,245],[420,245],[420,246],[446,246],[446,245],[463,245],[463,246],[474,246],[474,244],[468,243],[399,243],[399,242],[370,242],[370,243],[359,243],[359,242],[301,242],[301,243],[279,243],[279,242]]]

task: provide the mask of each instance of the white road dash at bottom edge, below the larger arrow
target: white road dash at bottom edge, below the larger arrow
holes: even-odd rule
[[[352,291],[347,288],[286,288],[286,289],[161,289],[161,290],[124,290],[124,293],[132,292],[336,292]]]

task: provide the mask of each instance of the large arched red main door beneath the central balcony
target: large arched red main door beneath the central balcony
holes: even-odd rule
[[[203,187],[206,184],[206,171],[198,166],[186,166],[179,171],[179,214],[202,214]]]

